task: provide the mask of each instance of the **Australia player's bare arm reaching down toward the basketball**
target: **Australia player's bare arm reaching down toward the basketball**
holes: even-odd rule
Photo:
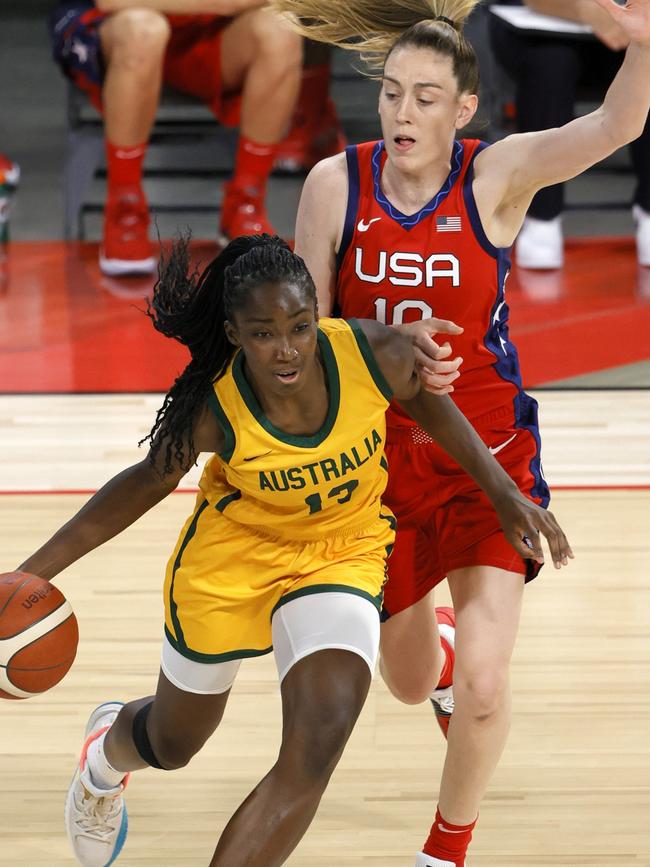
[[[203,409],[194,426],[196,453],[223,448],[223,431],[213,413]],[[18,568],[50,580],[89,551],[117,536],[178,487],[186,473],[174,461],[164,474],[165,443],[152,463],[150,456],[108,481],[38,551]]]

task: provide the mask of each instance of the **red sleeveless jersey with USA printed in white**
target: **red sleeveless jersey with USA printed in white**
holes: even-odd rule
[[[464,359],[453,398],[468,418],[503,406],[521,389],[504,296],[509,249],[488,241],[472,192],[474,158],[484,147],[474,139],[454,142],[447,180],[410,216],[381,190],[383,141],[348,147],[348,205],[337,258],[336,312],[345,319],[398,325],[436,316],[465,329],[449,340]],[[447,339],[434,339],[440,338]],[[395,404],[389,422],[413,424]]]

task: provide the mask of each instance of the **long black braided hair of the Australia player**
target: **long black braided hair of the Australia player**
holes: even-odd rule
[[[192,356],[165,395],[150,433],[140,440],[140,445],[151,441],[152,463],[166,443],[165,474],[172,471],[174,460],[185,470],[196,463],[195,419],[236,351],[226,337],[224,322],[246,304],[252,289],[284,280],[300,286],[315,301],[307,266],[277,236],[235,238],[201,274],[190,266],[189,237],[177,241],[169,256],[162,258],[147,315],[156,331],[187,346]]]

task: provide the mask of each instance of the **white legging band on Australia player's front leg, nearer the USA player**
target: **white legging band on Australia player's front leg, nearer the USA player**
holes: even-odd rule
[[[379,653],[379,612],[364,596],[340,591],[299,596],[277,609],[272,627],[280,681],[300,659],[328,649],[356,653],[374,674]]]

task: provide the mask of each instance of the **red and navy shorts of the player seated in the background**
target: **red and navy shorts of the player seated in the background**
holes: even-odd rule
[[[106,18],[107,13],[86,0],[62,3],[50,17],[54,59],[99,111],[105,73],[99,30]],[[224,96],[221,84],[221,36],[230,19],[214,15],[168,18],[171,36],[164,83],[200,99],[222,123],[237,125],[238,98]]]

